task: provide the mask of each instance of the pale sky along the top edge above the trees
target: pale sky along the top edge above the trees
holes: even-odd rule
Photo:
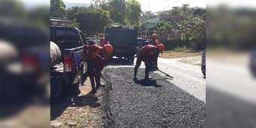
[[[25,3],[25,5],[50,5],[50,0],[17,0]],[[76,2],[76,3],[90,3],[92,0],[62,0],[63,2]],[[228,5],[231,8],[256,8],[255,0],[136,0],[142,5],[142,11],[163,11],[170,10],[174,6],[181,6],[183,4],[189,4],[190,7],[216,7],[221,3]]]

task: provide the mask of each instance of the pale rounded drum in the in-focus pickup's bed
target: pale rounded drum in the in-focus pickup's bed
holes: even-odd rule
[[[50,66],[55,66],[61,59],[61,52],[59,47],[50,41]]]

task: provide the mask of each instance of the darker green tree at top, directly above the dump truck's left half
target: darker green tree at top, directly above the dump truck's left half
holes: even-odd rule
[[[126,2],[125,0],[109,0],[111,20],[114,23],[126,25]]]

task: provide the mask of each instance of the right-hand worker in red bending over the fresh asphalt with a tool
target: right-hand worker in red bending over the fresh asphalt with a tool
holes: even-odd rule
[[[148,44],[139,50],[136,66],[134,68],[134,81],[137,80],[137,72],[142,61],[145,63],[145,80],[149,80],[149,70],[151,66],[154,66],[154,69],[158,70],[157,58],[159,53],[163,53],[163,50],[165,50],[165,46],[163,44],[158,44],[157,46]]]

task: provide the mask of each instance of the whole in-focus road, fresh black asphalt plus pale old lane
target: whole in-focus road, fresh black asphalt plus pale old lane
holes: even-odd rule
[[[103,76],[113,90],[103,98],[105,127],[206,127],[205,80],[200,66],[159,59],[160,72],[144,81],[141,66],[133,81],[133,63],[109,65]],[[105,87],[108,90],[108,87]]]

